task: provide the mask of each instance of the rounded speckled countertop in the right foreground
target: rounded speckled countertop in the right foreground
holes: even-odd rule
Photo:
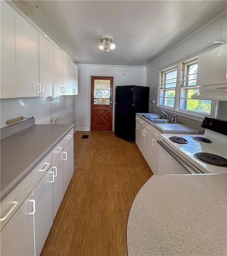
[[[227,255],[227,174],[153,175],[132,204],[128,256]]]

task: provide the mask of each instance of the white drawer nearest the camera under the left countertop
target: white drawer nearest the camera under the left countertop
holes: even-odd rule
[[[1,230],[32,191],[32,172],[1,202]]]

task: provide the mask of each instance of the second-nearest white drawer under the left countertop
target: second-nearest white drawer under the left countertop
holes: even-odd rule
[[[34,168],[32,171],[32,183],[33,188],[37,185],[37,183],[44,176],[46,171],[50,168],[52,164],[52,156],[51,152]]]

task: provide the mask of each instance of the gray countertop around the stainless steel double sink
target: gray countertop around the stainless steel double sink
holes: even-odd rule
[[[147,123],[154,126],[156,129],[160,130],[162,133],[196,133],[201,134],[204,133],[202,130],[198,130],[194,127],[188,126],[187,124],[155,124],[143,117],[142,115],[157,115],[152,113],[136,113],[137,116],[142,118]]]

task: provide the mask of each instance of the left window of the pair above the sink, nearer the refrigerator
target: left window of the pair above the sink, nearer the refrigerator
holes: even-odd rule
[[[159,105],[173,108],[177,85],[177,66],[161,72]]]

